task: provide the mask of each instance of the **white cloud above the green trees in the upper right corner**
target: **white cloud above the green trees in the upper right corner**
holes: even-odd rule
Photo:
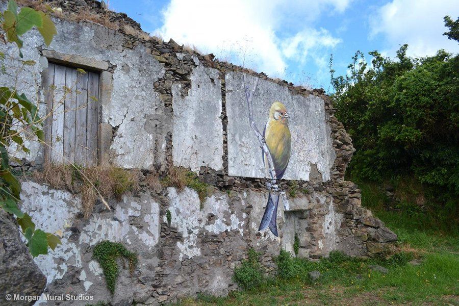
[[[409,45],[407,53],[412,56],[433,55],[442,48],[459,52],[457,42],[443,36],[447,31],[445,15],[457,18],[457,0],[393,0],[370,16],[370,38],[384,35],[389,43],[387,52],[392,56],[404,43]]]

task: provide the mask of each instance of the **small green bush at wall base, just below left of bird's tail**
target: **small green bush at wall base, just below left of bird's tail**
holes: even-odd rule
[[[243,260],[239,267],[234,269],[233,280],[244,289],[258,286],[263,280],[262,265],[260,264],[261,253],[254,249],[248,250],[248,258]]]

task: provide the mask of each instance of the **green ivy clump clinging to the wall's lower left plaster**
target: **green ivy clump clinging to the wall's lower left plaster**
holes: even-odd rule
[[[127,250],[121,243],[111,242],[108,240],[98,243],[92,252],[95,259],[104,270],[107,288],[110,292],[115,292],[116,279],[118,278],[119,268],[116,260],[118,258],[129,261],[129,269],[134,273],[137,265],[137,255]]]

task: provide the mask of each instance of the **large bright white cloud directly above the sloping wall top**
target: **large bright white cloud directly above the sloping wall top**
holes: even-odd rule
[[[158,29],[165,40],[196,46],[218,58],[244,64],[270,75],[283,75],[289,58],[307,57],[319,47],[329,48],[339,39],[311,23],[323,12],[343,12],[350,0],[171,0]],[[218,3],[218,4],[217,4]],[[300,27],[292,37],[279,36]],[[283,49],[285,48],[285,49]],[[298,50],[294,50],[297,48]]]

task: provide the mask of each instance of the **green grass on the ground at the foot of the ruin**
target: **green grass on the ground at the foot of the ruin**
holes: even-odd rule
[[[455,225],[439,225],[434,216],[386,211],[377,186],[361,184],[363,206],[399,237],[390,258],[358,259],[339,252],[312,262],[286,256],[276,277],[227,297],[199,294],[176,305],[459,305],[459,236]],[[416,199],[415,199],[416,200]],[[419,202],[419,200],[418,200]],[[410,263],[417,259],[420,264]],[[369,265],[388,269],[387,274]],[[312,282],[308,272],[322,276]]]

